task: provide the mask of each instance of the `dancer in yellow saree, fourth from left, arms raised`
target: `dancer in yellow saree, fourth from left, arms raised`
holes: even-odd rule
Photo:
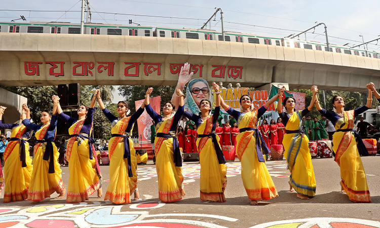
[[[135,200],[139,199],[137,189],[137,160],[133,141],[129,137],[132,133],[133,124],[144,111],[144,104],[129,116],[129,104],[119,101],[119,118],[112,115],[97,92],[97,100],[104,115],[111,122],[112,138],[108,142],[109,157],[109,184],[104,200],[115,204],[131,203],[131,195],[135,194]],[[127,142],[127,143],[126,143]]]

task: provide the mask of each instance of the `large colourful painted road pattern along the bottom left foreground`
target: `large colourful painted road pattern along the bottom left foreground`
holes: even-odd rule
[[[132,211],[121,211],[129,206]],[[200,221],[202,218],[236,222],[238,219],[210,214],[149,214],[149,209],[164,207],[158,201],[115,206],[112,203],[51,204],[31,208],[2,207],[0,227],[85,228],[85,227],[167,227],[223,228],[225,226]],[[184,217],[186,219],[184,219]]]

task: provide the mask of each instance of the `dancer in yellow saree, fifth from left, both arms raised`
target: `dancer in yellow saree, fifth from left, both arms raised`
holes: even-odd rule
[[[146,91],[145,110],[156,123],[155,155],[159,199],[162,202],[174,202],[185,196],[181,151],[175,136],[178,121],[183,114],[183,93],[176,89],[177,95],[180,96],[177,112],[173,115],[175,106],[167,102],[161,116],[149,104],[149,95],[152,91],[153,88]]]

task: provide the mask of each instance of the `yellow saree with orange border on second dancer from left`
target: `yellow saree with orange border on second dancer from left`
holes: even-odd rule
[[[40,130],[35,132],[37,140],[44,138],[49,126],[50,124],[42,126]],[[48,161],[43,160],[45,148],[46,142],[40,142],[34,146],[33,171],[29,183],[28,200],[41,201],[50,197],[50,194],[54,192],[60,194],[64,189],[57,147],[53,143],[54,173],[48,173],[50,158]]]

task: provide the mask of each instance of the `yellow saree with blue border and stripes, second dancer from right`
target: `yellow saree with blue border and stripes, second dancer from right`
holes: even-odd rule
[[[293,113],[285,129],[287,131],[302,130],[302,111]],[[284,156],[291,173],[290,184],[297,193],[314,197],[317,184],[308,137],[301,133],[287,133],[284,135],[282,143],[285,147]]]

